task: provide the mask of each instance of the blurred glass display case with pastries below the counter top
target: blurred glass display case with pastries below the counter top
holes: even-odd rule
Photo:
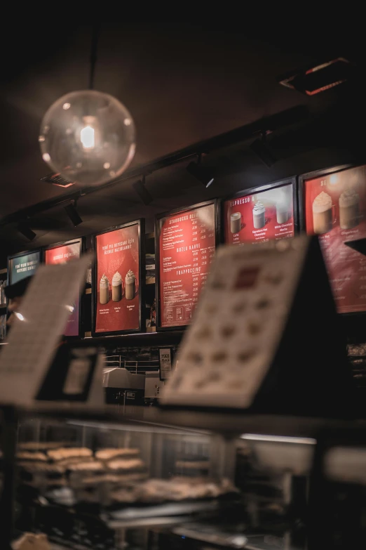
[[[309,548],[321,428],[305,436],[309,419],[289,429],[144,407],[1,415],[1,549],[40,535],[34,550]]]

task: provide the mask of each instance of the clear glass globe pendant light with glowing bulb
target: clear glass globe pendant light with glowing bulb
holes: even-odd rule
[[[135,155],[135,124],[116,98],[94,90],[57,99],[39,132],[48,166],[79,185],[101,185],[121,176]]]

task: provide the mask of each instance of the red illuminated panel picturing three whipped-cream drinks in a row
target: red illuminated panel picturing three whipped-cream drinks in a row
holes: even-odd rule
[[[109,228],[95,236],[94,333],[141,330],[141,242],[143,221]]]

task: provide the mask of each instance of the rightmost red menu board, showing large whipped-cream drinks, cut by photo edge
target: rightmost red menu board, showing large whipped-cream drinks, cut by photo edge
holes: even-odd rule
[[[300,178],[306,233],[319,235],[339,313],[366,311],[366,256],[344,242],[366,237],[366,166]]]

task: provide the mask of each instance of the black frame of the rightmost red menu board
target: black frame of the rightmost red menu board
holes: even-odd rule
[[[302,173],[299,177],[298,184],[298,202],[299,202],[299,220],[300,220],[300,231],[301,233],[306,233],[306,206],[305,206],[305,186],[306,181],[313,180],[317,178],[323,178],[323,176],[330,176],[332,173],[342,172],[344,170],[349,170],[351,168],[360,168],[360,166],[365,166],[365,162],[358,164],[337,164],[336,166],[330,166],[328,168],[322,168],[319,170],[313,170],[311,172]],[[365,311],[349,311],[346,313],[338,313],[345,320],[355,319],[356,317],[366,318]],[[353,332],[354,327],[346,327]]]

